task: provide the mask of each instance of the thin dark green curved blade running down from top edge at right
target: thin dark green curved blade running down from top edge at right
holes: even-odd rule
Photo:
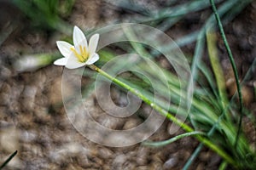
[[[225,48],[226,48],[226,50],[228,52],[230,63],[232,65],[232,69],[234,71],[235,78],[236,78],[236,88],[237,88],[237,92],[238,92],[238,98],[239,98],[239,103],[240,103],[239,108],[240,108],[240,112],[241,112],[240,119],[239,119],[238,130],[237,130],[237,133],[236,133],[236,142],[234,144],[234,146],[236,148],[237,147],[237,143],[238,143],[238,138],[239,138],[239,135],[241,133],[241,121],[242,121],[242,117],[243,117],[241,87],[240,87],[240,83],[239,83],[239,77],[238,77],[238,73],[237,73],[237,69],[236,69],[235,60],[233,58],[233,54],[232,54],[232,52],[230,50],[230,46],[229,46],[229,43],[228,43],[227,38],[225,36],[223,26],[222,26],[220,18],[218,16],[217,8],[216,8],[215,3],[214,3],[213,0],[210,0],[210,3],[212,5],[212,10],[214,12],[215,18],[216,18],[216,20],[218,22],[218,28],[219,28],[219,31],[221,33],[221,37],[222,37],[222,39],[224,41],[224,46],[225,46]]]

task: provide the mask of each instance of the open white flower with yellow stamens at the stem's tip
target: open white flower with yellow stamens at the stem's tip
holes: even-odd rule
[[[55,65],[66,65],[68,69],[76,69],[84,65],[92,65],[99,59],[96,48],[99,34],[90,37],[89,46],[83,31],[78,26],[73,28],[73,45],[68,42],[57,41],[57,47],[64,56],[55,60]]]

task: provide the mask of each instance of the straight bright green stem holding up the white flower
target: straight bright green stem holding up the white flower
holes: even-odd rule
[[[162,116],[166,116],[169,120],[177,124],[177,126],[182,127],[184,131],[187,133],[195,132],[195,130],[192,127],[189,127],[189,125],[183,123],[177,117],[172,116],[171,113],[168,111],[162,109],[159,105],[156,105],[154,102],[152,102],[150,99],[148,99],[146,96],[141,94],[136,88],[131,88],[131,86],[125,84],[124,82],[119,81],[117,78],[112,77],[107,72],[102,71],[100,68],[98,68],[96,65],[89,65],[90,69],[93,71],[97,71],[100,73],[103,77],[107,77],[109,80],[115,82],[120,87],[125,88],[129,90],[132,94],[137,95],[140,99],[142,99],[146,104],[150,105],[155,111],[158,111]],[[206,144],[210,149],[214,150],[216,153],[218,153],[219,156],[222,156],[224,160],[228,161],[230,164],[237,166],[236,161],[233,160],[232,157],[230,157],[224,150],[218,148],[216,144],[213,144],[212,141],[207,139],[204,136],[201,135],[195,135],[195,138],[201,141],[201,143]]]

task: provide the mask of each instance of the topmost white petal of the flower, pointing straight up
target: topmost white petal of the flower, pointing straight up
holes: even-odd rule
[[[79,45],[82,45],[85,48],[88,47],[86,37],[84,36],[84,32],[81,31],[78,26],[74,26],[73,28],[73,44],[75,48]]]

